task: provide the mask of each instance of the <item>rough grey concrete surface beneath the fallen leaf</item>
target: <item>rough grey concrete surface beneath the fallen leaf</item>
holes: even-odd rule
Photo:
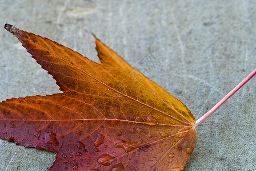
[[[256,67],[256,1],[0,1],[0,101],[59,92],[5,23],[98,62],[94,32],[199,119]],[[141,59],[159,63],[149,70]],[[256,78],[197,127],[184,170],[256,170]],[[47,170],[55,154],[0,140],[0,170]]]

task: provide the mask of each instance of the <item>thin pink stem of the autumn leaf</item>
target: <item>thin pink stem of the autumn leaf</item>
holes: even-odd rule
[[[223,99],[221,99],[221,101],[219,101],[213,108],[211,108],[210,111],[208,111],[207,113],[205,113],[205,115],[203,115],[197,121],[195,121],[194,127],[197,127],[204,120],[206,120],[207,117],[209,117],[211,114],[213,114],[219,107],[221,107],[221,105],[223,103],[225,103],[225,101],[227,101],[227,99],[229,99],[231,96],[233,96],[234,93],[238,91],[238,89],[243,87],[243,85],[245,85],[251,78],[253,78],[253,76],[255,74],[256,74],[256,69],[253,72],[251,72],[251,74],[249,74],[245,79],[243,79],[242,82],[239,83],[234,89],[232,89],[229,93],[227,93],[227,95],[225,97],[223,97]]]

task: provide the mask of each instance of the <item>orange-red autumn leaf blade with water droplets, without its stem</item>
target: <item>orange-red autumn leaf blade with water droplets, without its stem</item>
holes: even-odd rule
[[[197,132],[181,101],[96,36],[101,64],[50,39],[5,28],[63,93],[2,101],[2,139],[55,152],[49,170],[183,169]]]

